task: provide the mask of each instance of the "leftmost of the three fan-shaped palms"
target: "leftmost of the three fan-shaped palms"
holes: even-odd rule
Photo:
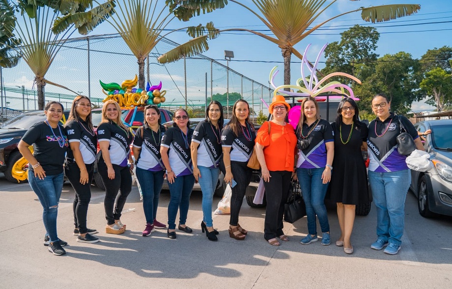
[[[18,0],[17,3],[8,0],[0,1],[2,9],[9,15],[13,15],[14,20],[16,20],[16,14],[22,17],[22,22],[15,21],[15,25],[9,24],[8,27],[1,26],[1,28],[10,34],[17,33],[21,45],[16,47],[16,51],[20,53],[35,75],[38,109],[44,109],[44,86],[46,83],[52,83],[44,77],[58,51],[75,28],[79,31],[92,31],[95,26],[108,18],[111,15],[113,3],[108,1],[93,7],[92,0]],[[85,12],[88,8],[91,9]],[[75,12],[84,13],[86,20],[71,26],[64,33],[52,33],[51,25],[59,15]],[[14,43],[6,46],[9,51],[13,51]],[[15,59],[17,57],[12,58],[12,60]]]

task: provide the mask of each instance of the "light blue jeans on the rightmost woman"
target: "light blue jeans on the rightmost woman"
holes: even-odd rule
[[[405,198],[411,183],[410,170],[368,172],[373,202],[377,208],[377,236],[400,245],[405,221]]]

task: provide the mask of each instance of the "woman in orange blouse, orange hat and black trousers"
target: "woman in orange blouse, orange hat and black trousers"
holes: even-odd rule
[[[289,240],[282,232],[282,214],[291,184],[297,144],[293,127],[285,122],[289,109],[290,106],[283,96],[277,95],[273,98],[269,107],[273,119],[264,123],[257,131],[254,147],[262,167],[267,200],[264,238],[273,246],[280,245],[277,238],[282,241]]]

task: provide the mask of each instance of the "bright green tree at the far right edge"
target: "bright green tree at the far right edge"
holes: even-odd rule
[[[444,69],[436,67],[425,74],[420,87],[427,94],[428,105],[436,105],[436,111],[452,105],[452,77]]]

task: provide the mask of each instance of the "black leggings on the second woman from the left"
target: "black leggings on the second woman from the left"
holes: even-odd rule
[[[67,158],[64,167],[66,178],[71,182],[75,190],[74,203],[72,205],[74,210],[74,225],[75,228],[79,229],[80,234],[85,234],[88,231],[86,228],[86,215],[88,213],[88,204],[91,200],[91,182],[94,172],[93,163],[86,164],[85,166],[89,178],[86,184],[80,184],[80,169],[73,159]]]

